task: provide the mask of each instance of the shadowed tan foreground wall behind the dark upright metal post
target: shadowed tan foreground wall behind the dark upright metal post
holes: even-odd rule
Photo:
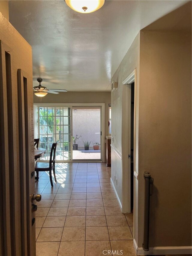
[[[186,32],[140,35],[140,227],[144,171],[154,178],[149,246],[190,246],[191,34]],[[139,246],[142,239],[140,232]]]

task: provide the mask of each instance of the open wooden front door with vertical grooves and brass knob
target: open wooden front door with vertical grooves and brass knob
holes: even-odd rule
[[[34,192],[32,49],[0,13],[0,255],[35,255]]]

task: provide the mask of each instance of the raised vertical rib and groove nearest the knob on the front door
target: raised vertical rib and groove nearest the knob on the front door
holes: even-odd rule
[[[34,172],[34,139],[31,127],[33,127],[33,112],[29,105],[31,89],[28,84],[28,74],[18,69],[18,112],[19,112],[19,162],[21,182],[21,240],[23,253],[33,255],[35,244],[35,212],[32,212],[31,195],[35,192]],[[31,153],[32,152],[32,153]],[[27,196],[29,195],[29,196]]]

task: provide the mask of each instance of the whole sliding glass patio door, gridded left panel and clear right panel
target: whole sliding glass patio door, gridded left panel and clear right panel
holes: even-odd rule
[[[56,161],[100,161],[104,159],[104,104],[34,104],[34,134],[49,160],[52,143],[58,141]]]

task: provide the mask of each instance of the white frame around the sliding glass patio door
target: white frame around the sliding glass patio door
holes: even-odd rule
[[[85,162],[103,162],[105,163],[105,103],[34,103],[34,106],[54,106],[54,107],[70,107],[71,112],[73,107],[101,107],[101,160],[90,160]],[[73,134],[73,120],[72,120],[72,113],[71,113],[71,139],[72,139],[72,134]],[[71,140],[72,142],[72,140]],[[71,159],[73,150],[72,150],[72,144],[71,143]],[[74,160],[74,161],[79,161],[79,160]],[[57,161],[57,162],[63,162],[63,161]],[[65,161],[65,162],[72,162],[72,160]]]

